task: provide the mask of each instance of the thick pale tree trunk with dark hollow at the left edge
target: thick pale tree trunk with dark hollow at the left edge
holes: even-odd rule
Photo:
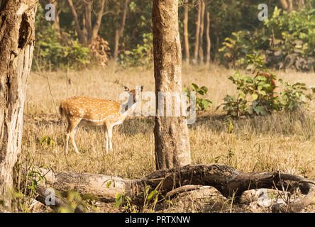
[[[10,205],[13,166],[21,153],[26,82],[35,43],[37,0],[1,1],[0,197]]]

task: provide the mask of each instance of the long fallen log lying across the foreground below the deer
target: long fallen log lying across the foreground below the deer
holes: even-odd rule
[[[123,179],[92,173],[52,172],[38,168],[46,184],[60,192],[74,190],[79,194],[97,196],[101,201],[113,201],[116,194],[126,194],[133,201],[142,201],[144,188],[157,189],[160,195],[176,193],[185,185],[215,187],[223,196],[238,198],[249,189],[294,189],[299,187],[303,198],[290,204],[272,207],[274,212],[299,212],[314,203],[315,181],[280,172],[241,172],[228,165],[186,165],[169,170],[157,170],[143,179]],[[192,187],[193,188],[193,187]],[[197,188],[197,187],[196,187]],[[172,192],[173,191],[173,192]],[[181,192],[181,190],[178,190]]]

